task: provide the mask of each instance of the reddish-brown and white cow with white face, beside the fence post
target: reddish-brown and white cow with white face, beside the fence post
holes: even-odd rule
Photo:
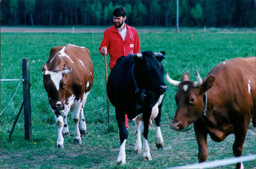
[[[84,103],[92,88],[94,74],[89,50],[72,44],[53,47],[42,71],[44,88],[58,127],[57,147],[62,149],[63,135],[69,135],[67,115],[71,107],[75,123],[74,142],[81,144],[80,133],[86,133]]]

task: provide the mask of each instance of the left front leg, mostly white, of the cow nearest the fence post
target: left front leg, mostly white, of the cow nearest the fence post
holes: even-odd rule
[[[63,118],[60,114],[60,111],[53,111],[55,119],[56,119],[56,125],[58,128],[58,139],[57,139],[57,147],[59,149],[63,149],[64,148],[64,138],[62,135],[62,129],[63,129]]]

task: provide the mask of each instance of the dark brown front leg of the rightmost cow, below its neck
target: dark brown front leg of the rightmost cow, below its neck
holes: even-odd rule
[[[202,119],[198,119],[194,123],[194,130],[196,134],[196,141],[198,144],[198,161],[205,162],[208,157],[207,150],[207,129],[204,121]]]

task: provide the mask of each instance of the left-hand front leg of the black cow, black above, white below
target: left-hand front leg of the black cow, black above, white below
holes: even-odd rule
[[[121,142],[120,151],[117,157],[117,164],[122,165],[126,163],[126,154],[125,154],[125,142],[127,140],[128,132],[125,127],[125,121],[124,121],[125,115],[120,114],[118,110],[116,109],[116,120],[119,128],[119,138]]]

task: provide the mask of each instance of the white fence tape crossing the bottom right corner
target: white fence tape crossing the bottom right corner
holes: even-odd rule
[[[251,161],[255,159],[256,159],[256,155],[254,154],[254,155],[248,155],[248,156],[242,156],[242,157],[233,157],[233,158],[226,158],[221,160],[208,161],[204,163],[196,163],[191,165],[182,165],[182,166],[172,167],[172,169],[173,168],[213,168],[213,167],[230,165],[230,164],[235,164],[235,163],[244,162],[244,161]]]

